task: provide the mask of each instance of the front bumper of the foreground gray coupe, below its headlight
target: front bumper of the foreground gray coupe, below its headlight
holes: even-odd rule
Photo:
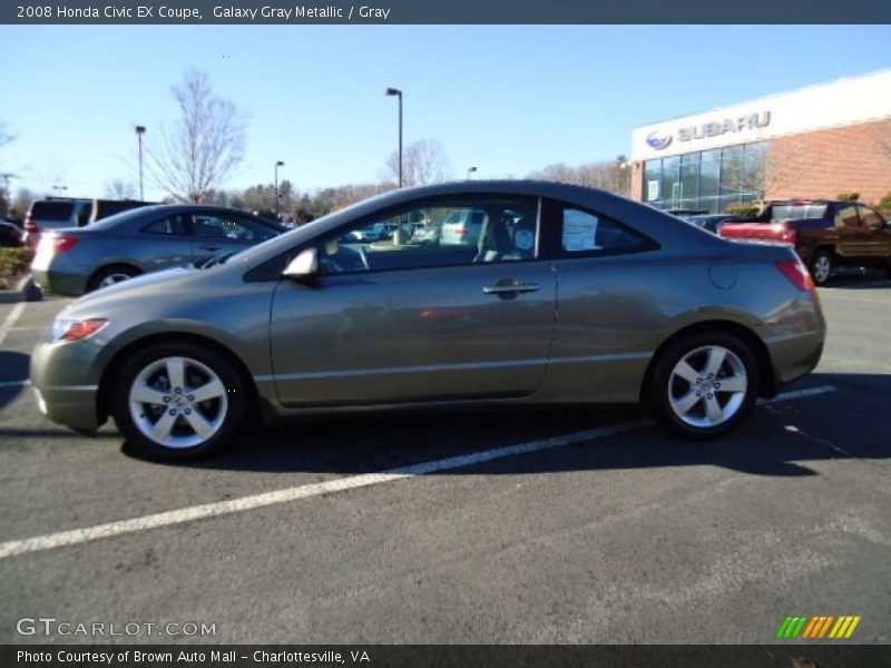
[[[31,386],[40,412],[79,432],[100,425],[99,383],[90,373],[88,343],[41,343],[31,354]]]

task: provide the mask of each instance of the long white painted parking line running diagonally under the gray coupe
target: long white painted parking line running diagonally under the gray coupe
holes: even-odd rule
[[[835,387],[832,385],[799,390],[796,392],[779,394],[767,403],[791,401],[794,399],[814,396],[816,394],[825,394],[826,392],[834,391]],[[613,436],[615,434],[640,431],[650,425],[652,423],[649,421],[644,420],[625,422],[600,429],[552,436],[550,439],[541,439],[539,441],[529,441],[527,443],[519,443],[517,445],[507,445],[505,448],[495,448],[491,450],[483,450],[481,452],[463,454],[460,456],[433,460],[430,462],[413,464],[411,466],[390,469],[388,471],[381,471],[380,473],[365,473],[362,475],[337,478],[336,480],[329,480],[313,484],[303,484],[283,490],[276,490],[274,492],[266,492],[263,494],[252,494],[249,497],[242,497],[241,499],[231,499],[227,501],[217,501],[215,503],[204,503],[202,505],[180,508],[178,510],[159,512],[130,520],[107,522],[105,524],[96,524],[94,527],[74,529],[71,531],[60,531],[58,533],[49,533],[47,536],[39,536],[36,538],[11,540],[0,543],[0,559],[14,557],[17,554],[27,554],[29,552],[38,552],[41,550],[50,550],[52,548],[75,546],[98,540],[100,538],[111,538],[114,536],[121,536],[124,533],[133,533],[135,531],[146,531],[148,529],[157,529],[159,527],[182,524],[183,522],[190,522],[193,520],[199,520],[204,518],[232,514],[245,510],[253,510],[255,508],[264,508],[266,505],[296,501],[298,499],[319,497],[321,494],[331,494],[334,492],[343,492],[346,490],[354,490],[373,484],[381,484],[384,482],[394,482],[396,480],[404,480],[407,478],[415,478],[418,475],[427,475],[430,473],[439,473],[441,471],[449,471],[451,469],[461,469],[472,464],[490,462],[508,456],[516,456],[518,454],[541,452],[544,450],[565,448],[567,445],[574,445],[577,443],[587,443],[590,441],[605,439],[607,436]]]

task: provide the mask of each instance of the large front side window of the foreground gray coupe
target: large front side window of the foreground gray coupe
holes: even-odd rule
[[[474,199],[363,219],[317,246],[323,273],[386,272],[535,259],[537,200]]]

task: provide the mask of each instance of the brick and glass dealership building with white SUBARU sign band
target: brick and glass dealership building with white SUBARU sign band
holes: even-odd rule
[[[760,199],[891,191],[891,70],[639,127],[631,196],[723,213]]]

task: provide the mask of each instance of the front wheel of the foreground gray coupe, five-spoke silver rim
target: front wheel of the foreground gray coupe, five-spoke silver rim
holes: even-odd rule
[[[173,386],[165,387],[166,381],[172,379],[168,363],[173,360],[184,360],[182,392],[176,392]],[[208,380],[213,376],[222,385],[222,395],[200,402],[199,395],[193,392],[210,389]],[[137,380],[140,385],[147,381],[149,391],[159,391],[172,401],[165,405],[131,403],[130,392]],[[161,343],[139,351],[124,363],[114,379],[111,414],[134,454],[156,461],[196,459],[223,448],[242,424],[245,390],[241,374],[225,356],[194,343]],[[146,433],[161,419],[173,422],[167,444]],[[192,426],[196,419],[204,419],[208,426],[214,428],[213,433],[208,431],[208,438]]]

